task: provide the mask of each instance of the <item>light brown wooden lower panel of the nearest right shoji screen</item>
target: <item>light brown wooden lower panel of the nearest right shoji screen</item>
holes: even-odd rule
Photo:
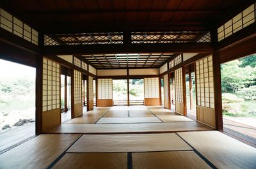
[[[214,129],[216,128],[214,108],[196,106],[196,119],[197,121],[207,124],[207,126],[211,126]]]

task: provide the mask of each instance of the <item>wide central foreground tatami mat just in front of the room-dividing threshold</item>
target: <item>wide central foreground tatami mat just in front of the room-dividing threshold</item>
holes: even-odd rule
[[[67,152],[149,152],[191,150],[175,133],[83,135]]]

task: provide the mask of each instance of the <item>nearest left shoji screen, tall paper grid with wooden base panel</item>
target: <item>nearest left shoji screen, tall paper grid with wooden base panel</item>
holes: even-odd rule
[[[42,72],[43,132],[60,124],[60,64],[44,57]]]

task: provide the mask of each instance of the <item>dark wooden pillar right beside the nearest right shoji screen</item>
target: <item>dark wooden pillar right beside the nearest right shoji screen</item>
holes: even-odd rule
[[[221,71],[220,71],[220,52],[212,54],[212,67],[214,78],[214,108],[216,129],[223,131],[222,101],[221,101]]]

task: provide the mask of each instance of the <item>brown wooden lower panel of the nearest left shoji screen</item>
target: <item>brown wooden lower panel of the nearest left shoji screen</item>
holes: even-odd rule
[[[52,129],[61,124],[61,109],[56,108],[42,112],[42,130],[43,132]]]

